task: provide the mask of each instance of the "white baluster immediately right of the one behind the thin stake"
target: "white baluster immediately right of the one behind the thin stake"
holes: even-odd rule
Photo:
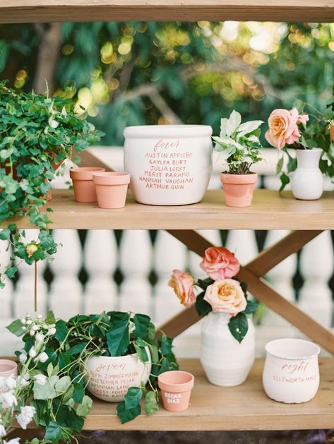
[[[83,289],[78,280],[82,249],[76,230],[56,229],[53,235],[56,243],[62,246],[59,246],[51,263],[54,280],[49,304],[57,318],[68,319],[83,310]]]

